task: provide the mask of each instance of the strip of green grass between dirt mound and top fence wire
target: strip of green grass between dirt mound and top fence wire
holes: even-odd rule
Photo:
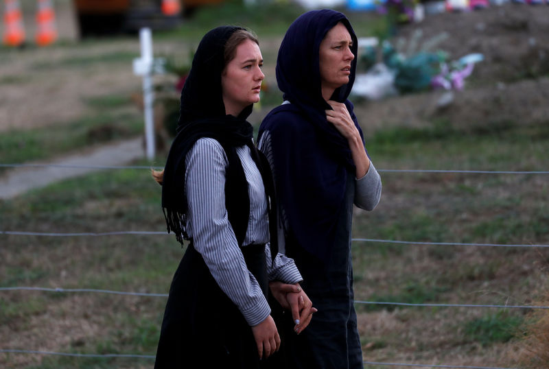
[[[446,121],[434,121],[424,128],[379,130],[366,144],[373,157],[398,158],[406,169],[539,170],[532,159],[543,160],[548,127],[507,121],[453,127]],[[379,159],[376,163],[379,167]],[[418,167],[417,163],[425,166]],[[397,169],[395,165],[388,167]]]

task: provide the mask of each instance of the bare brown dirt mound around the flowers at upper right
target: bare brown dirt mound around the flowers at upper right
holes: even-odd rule
[[[494,121],[549,122],[549,6],[506,4],[474,12],[427,16],[399,29],[396,43],[419,38],[419,45],[441,34],[436,49],[456,60],[482,53],[463,91],[439,106],[441,91],[402,95],[359,106],[366,131],[387,124],[424,126],[445,119],[455,126]],[[400,40],[399,40],[400,39]],[[366,117],[366,119],[364,119]]]

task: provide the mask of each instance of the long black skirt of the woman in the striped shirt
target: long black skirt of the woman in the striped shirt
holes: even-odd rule
[[[264,245],[241,248],[267,296]],[[192,246],[179,263],[167,298],[154,368],[261,368],[252,330]]]

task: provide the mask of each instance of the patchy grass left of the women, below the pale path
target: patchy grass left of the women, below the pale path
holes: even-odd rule
[[[164,230],[159,206],[161,187],[146,170],[103,171],[74,178],[0,202],[3,229]],[[127,228],[130,227],[130,228]],[[3,285],[98,288],[167,293],[170,278],[183,250],[169,236],[131,237],[11,237],[0,236]],[[40,255],[40,258],[36,258]],[[34,256],[34,257],[33,257]],[[14,262],[12,264],[12,262]],[[65,271],[64,273],[60,273]],[[45,314],[52,323],[67,316],[100,320],[99,331],[83,335],[67,353],[154,354],[165,298],[135,298],[105,294],[37,293],[38,300],[12,291],[2,296],[0,320],[21,326]],[[82,301],[82,302],[73,302]],[[86,306],[74,315],[72,304]],[[128,312],[132,313],[128,313]],[[52,315],[53,314],[53,315]],[[94,324],[91,322],[90,324]],[[36,324],[36,323],[35,323]],[[138,360],[139,361],[139,360]],[[2,358],[0,357],[0,362]],[[9,362],[9,360],[8,360]],[[43,357],[29,368],[137,368],[132,359]],[[145,359],[143,365],[152,365]]]

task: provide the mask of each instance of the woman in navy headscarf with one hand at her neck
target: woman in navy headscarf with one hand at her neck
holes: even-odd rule
[[[277,60],[284,102],[259,128],[279,198],[279,247],[318,312],[306,331],[279,324],[287,368],[362,368],[353,307],[353,204],[373,210],[382,184],[347,97],[357,38],[340,12],[313,10],[286,32]],[[286,333],[290,331],[290,333]],[[283,334],[285,333],[285,334]]]

